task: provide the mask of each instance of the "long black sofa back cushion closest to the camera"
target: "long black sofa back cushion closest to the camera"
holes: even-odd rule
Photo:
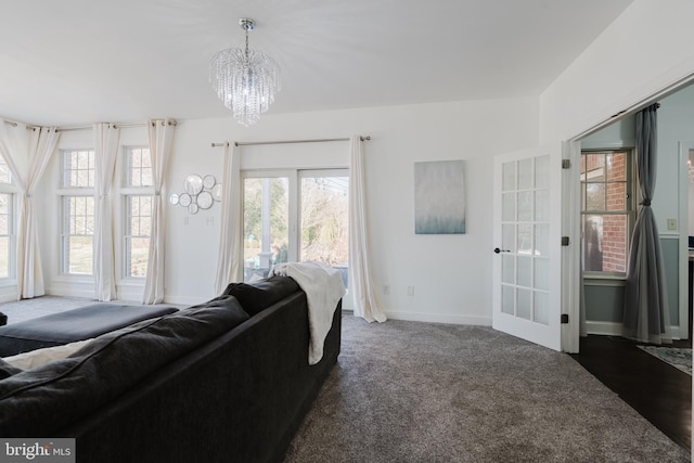
[[[7,377],[0,436],[51,436],[247,319],[228,298],[101,335],[65,359]]]

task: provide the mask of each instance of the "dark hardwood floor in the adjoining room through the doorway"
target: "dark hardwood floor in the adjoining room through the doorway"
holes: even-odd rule
[[[674,342],[672,346],[691,347],[691,342]],[[670,439],[691,451],[692,376],[618,336],[581,337],[580,353],[571,357]]]

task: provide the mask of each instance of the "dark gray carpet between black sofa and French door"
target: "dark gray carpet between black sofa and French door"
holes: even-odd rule
[[[690,460],[568,355],[483,326],[343,323],[286,463]]]

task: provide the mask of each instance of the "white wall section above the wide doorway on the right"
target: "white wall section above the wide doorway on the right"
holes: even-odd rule
[[[540,97],[540,140],[568,140],[694,74],[694,2],[635,0]]]

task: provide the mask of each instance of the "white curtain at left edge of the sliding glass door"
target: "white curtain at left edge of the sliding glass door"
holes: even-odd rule
[[[241,204],[241,154],[235,143],[224,147],[222,179],[221,231],[215,294],[221,294],[232,282],[243,281],[243,206]]]

